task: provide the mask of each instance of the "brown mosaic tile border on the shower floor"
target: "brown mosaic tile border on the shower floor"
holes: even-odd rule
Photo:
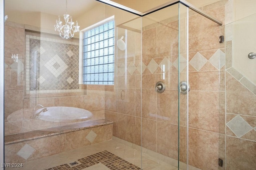
[[[98,163],[102,163],[111,170],[141,170],[141,168],[138,166],[135,166],[134,164],[112,154],[111,152],[108,152],[107,150],[80,158],[77,161],[78,164],[74,166],[68,163],[55,166],[53,168],[48,168],[46,170],[82,170]]]

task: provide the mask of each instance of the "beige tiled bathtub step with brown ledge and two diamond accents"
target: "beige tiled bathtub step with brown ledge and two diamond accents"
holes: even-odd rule
[[[5,162],[28,162],[110,140],[112,123],[107,119],[100,119],[7,135],[5,136]]]

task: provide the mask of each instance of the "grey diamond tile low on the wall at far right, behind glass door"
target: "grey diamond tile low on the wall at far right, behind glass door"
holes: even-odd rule
[[[240,116],[237,115],[227,123],[229,129],[231,129],[237,137],[242,137],[246,133],[252,130],[252,127]]]

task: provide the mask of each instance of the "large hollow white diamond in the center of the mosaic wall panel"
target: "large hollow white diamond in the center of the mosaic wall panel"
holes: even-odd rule
[[[58,69],[54,68],[53,65],[55,63],[60,64],[60,67]],[[48,70],[50,70],[50,72],[55,77],[58,77],[64,70],[66,70],[66,68],[68,68],[68,66],[64,63],[64,61],[62,61],[62,59],[60,59],[58,55],[55,55],[54,57],[52,57],[52,59],[50,59],[50,61],[44,64],[44,66],[46,66],[46,68],[48,68]]]

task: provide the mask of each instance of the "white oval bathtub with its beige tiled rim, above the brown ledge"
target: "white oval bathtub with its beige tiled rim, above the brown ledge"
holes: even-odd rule
[[[38,108],[35,111],[35,114],[39,113],[44,108]],[[14,111],[8,115],[7,121],[5,121],[5,135],[48,129],[105,118],[104,113],[92,113],[91,111],[76,107],[60,106],[47,108],[48,111],[41,112],[37,117],[38,119],[32,119],[30,117],[33,112],[33,108],[24,108]]]

